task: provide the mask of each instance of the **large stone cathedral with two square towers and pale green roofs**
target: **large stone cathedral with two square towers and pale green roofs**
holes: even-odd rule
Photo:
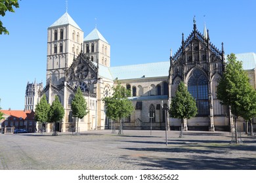
[[[236,56],[245,62],[244,69],[255,87],[256,54]],[[76,124],[71,103],[79,87],[89,108],[89,114],[79,120],[79,131],[113,129],[112,120],[106,117],[102,98],[112,95],[118,80],[131,91],[129,99],[135,107],[131,116],[122,119],[123,129],[161,130],[167,124],[168,129],[179,130],[181,120],[169,118],[168,106],[182,81],[198,107],[196,117],[184,120],[184,130],[229,131],[233,126],[232,115],[216,96],[224,62],[223,44],[221,50],[214,46],[209,31],[205,28],[203,34],[200,33],[194,20],[192,32],[186,39],[182,34],[181,47],[174,55],[171,51],[169,61],[111,67],[110,44],[100,31],[95,27],[84,36],[66,12],[48,27],[46,86],[28,83],[25,107],[34,109],[32,103],[38,103],[43,94],[51,104],[57,95],[65,115],[56,124],[56,129],[74,131]],[[45,130],[52,131],[53,124],[45,125]]]

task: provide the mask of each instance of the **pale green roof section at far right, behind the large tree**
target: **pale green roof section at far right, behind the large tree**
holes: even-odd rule
[[[235,54],[235,55],[239,61],[243,62],[244,70],[255,69],[255,67],[256,67],[256,54],[255,53],[249,52],[249,53]],[[227,58],[227,56],[225,56],[225,59],[226,58]]]

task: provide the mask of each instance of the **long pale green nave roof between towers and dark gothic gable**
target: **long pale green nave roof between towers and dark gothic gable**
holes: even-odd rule
[[[169,61],[110,67],[112,78],[133,79],[169,76]]]

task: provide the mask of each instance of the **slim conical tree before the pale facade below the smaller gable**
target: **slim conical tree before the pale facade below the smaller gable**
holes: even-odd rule
[[[77,89],[77,92],[75,93],[75,97],[72,100],[71,109],[72,109],[72,116],[77,118],[77,135],[78,135],[78,120],[83,118],[83,116],[86,116],[89,113],[89,110],[87,108],[87,103],[85,101],[85,98],[83,97],[83,93],[81,92],[80,88]]]

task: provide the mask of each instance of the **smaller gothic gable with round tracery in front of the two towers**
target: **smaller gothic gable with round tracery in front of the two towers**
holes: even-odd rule
[[[72,65],[66,71],[68,88],[75,90],[79,86],[82,92],[93,92],[94,84],[98,78],[98,67],[89,60],[89,57],[80,52]]]

